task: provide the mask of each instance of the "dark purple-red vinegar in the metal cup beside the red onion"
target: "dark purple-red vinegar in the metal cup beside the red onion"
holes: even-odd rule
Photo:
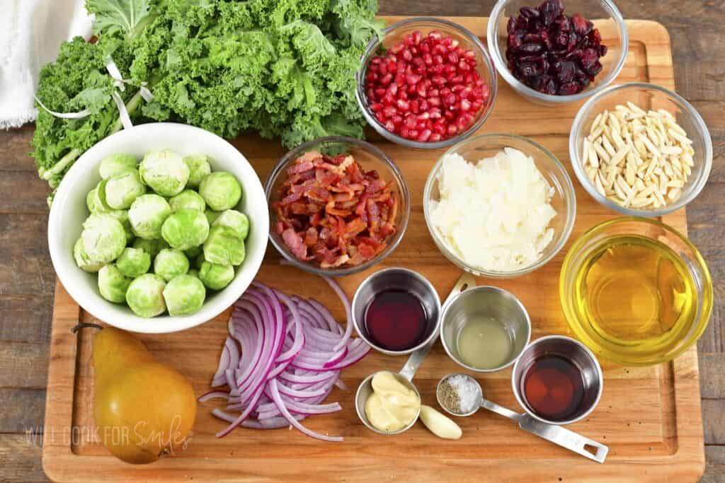
[[[423,342],[428,319],[418,297],[405,290],[378,293],[365,310],[365,330],[386,350],[407,350]]]

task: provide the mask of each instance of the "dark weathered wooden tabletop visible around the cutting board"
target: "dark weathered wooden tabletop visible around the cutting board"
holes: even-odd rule
[[[380,7],[383,14],[486,16],[494,3],[494,0],[380,0]],[[725,239],[722,218],[725,210],[721,203],[725,198],[725,119],[722,117],[725,108],[722,54],[725,51],[725,37],[722,35],[725,3],[719,0],[619,0],[616,3],[624,17],[657,20],[666,26],[671,35],[676,91],[700,111],[713,138],[715,159],[710,181],[703,194],[687,207],[687,212],[689,236],[708,261],[716,290],[716,307],[711,324],[698,344],[703,396],[723,398],[725,389],[717,376],[723,374],[725,369],[725,319],[722,310],[725,306],[725,258],[722,256],[722,240]],[[32,214],[28,214],[27,198],[25,203],[13,203],[14,206],[6,204],[4,209],[0,209],[1,226],[6,227],[6,219],[20,212],[26,214],[27,223],[14,224],[12,233],[0,230],[0,233],[7,232],[2,245],[3,253],[7,254],[6,260],[13,259],[17,267],[22,266],[27,253],[44,253],[45,257],[45,261],[24,266],[22,275],[15,275],[12,271],[0,273],[0,283],[4,284],[3,290],[0,290],[0,348],[4,347],[6,341],[28,340],[47,344],[50,339],[54,274],[43,228],[47,217],[43,206],[46,190],[40,180],[21,173],[35,172],[34,161],[28,156],[32,134],[32,125],[19,130],[0,130],[0,176],[7,180],[4,186],[10,189],[4,191],[2,196],[24,196],[18,192],[26,188],[28,180],[32,180],[36,186],[33,188],[36,198],[32,203]],[[28,232],[29,236],[26,235]],[[17,237],[22,238],[22,243],[14,241]],[[22,248],[17,250],[20,245]],[[7,253],[9,249],[16,251]],[[36,282],[38,280],[44,280],[43,284]],[[33,352],[27,361],[38,374],[33,384],[37,384],[38,379],[44,381],[47,353]],[[12,370],[3,364],[5,361],[0,361],[0,373]],[[19,384],[22,388],[22,381]],[[42,390],[30,391],[43,393]],[[24,411],[26,403],[28,399],[22,392],[8,395],[7,406],[1,416],[1,419],[8,420],[5,423],[7,427],[22,426],[9,421]],[[38,417],[42,416],[41,409]],[[712,431],[710,428],[714,421],[705,417],[704,423],[705,431]],[[17,435],[0,436],[0,481],[44,480],[40,450],[36,448],[33,451],[28,446],[23,446],[21,450],[12,442],[15,437]],[[38,445],[41,437],[42,434],[39,434]],[[25,436],[21,435],[20,438],[24,440]],[[725,446],[707,446],[706,458],[708,466],[703,482],[725,483]]]

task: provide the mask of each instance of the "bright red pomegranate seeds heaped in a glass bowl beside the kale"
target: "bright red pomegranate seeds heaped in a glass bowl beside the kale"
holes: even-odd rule
[[[468,130],[489,101],[476,52],[438,30],[410,33],[370,59],[368,106],[391,133],[436,143]]]

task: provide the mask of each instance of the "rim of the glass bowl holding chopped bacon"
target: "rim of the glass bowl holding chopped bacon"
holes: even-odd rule
[[[281,173],[283,172],[284,168],[289,164],[290,161],[293,161],[294,159],[297,159],[297,156],[299,154],[302,154],[304,151],[308,150],[312,146],[318,146],[321,143],[349,143],[357,146],[358,148],[362,148],[364,151],[368,151],[368,153],[373,154],[376,158],[378,158],[379,161],[381,161],[383,164],[385,164],[390,171],[393,174],[394,179],[396,180],[396,184],[400,190],[400,196],[402,198],[402,203],[405,203],[405,210],[403,213],[402,221],[401,223],[396,227],[396,233],[393,236],[393,238],[389,241],[388,246],[385,248],[384,251],[379,253],[375,258],[370,259],[366,261],[363,264],[355,265],[355,266],[349,266],[347,268],[335,268],[335,269],[323,269],[319,266],[312,266],[312,264],[308,262],[299,261],[297,257],[293,256],[291,253],[289,253],[289,250],[286,248],[286,246],[281,245],[278,243],[278,241],[275,239],[275,237],[272,235],[272,230],[275,229],[275,222],[276,222],[276,215],[274,214],[274,211],[270,204],[270,198],[272,196],[272,188],[279,177]],[[374,146],[371,143],[368,143],[365,140],[357,139],[357,138],[349,138],[347,136],[325,136],[323,138],[316,138],[307,141],[306,143],[302,143],[299,146],[296,146],[289,150],[284,156],[282,156],[279,161],[277,161],[277,164],[275,167],[273,167],[272,171],[270,171],[270,174],[267,177],[267,180],[265,181],[265,196],[267,198],[268,204],[270,204],[270,210],[269,210],[269,217],[270,217],[270,232],[269,232],[269,239],[274,248],[278,251],[278,253],[281,254],[283,259],[285,259],[289,264],[296,266],[298,269],[305,270],[306,272],[310,272],[313,274],[318,275],[326,275],[328,277],[343,277],[345,275],[355,274],[357,272],[363,272],[363,270],[370,268],[371,266],[377,264],[378,262],[382,261],[386,258],[390,253],[392,253],[395,248],[399,245],[399,243],[402,241],[403,236],[405,235],[405,230],[407,230],[407,224],[410,220],[410,191],[407,188],[407,183],[405,182],[405,178],[402,175],[402,172],[400,171],[400,168],[398,167],[395,162],[389,158],[380,148],[377,146]]]

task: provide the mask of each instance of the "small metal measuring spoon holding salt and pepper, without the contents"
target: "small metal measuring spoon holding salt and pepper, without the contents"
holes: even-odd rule
[[[472,411],[468,411],[468,413],[455,413],[454,411],[451,411],[450,408],[447,408],[441,400],[441,384],[446,379],[452,376],[463,376],[468,379],[469,382],[475,385],[477,403],[473,406]],[[438,383],[438,387],[436,388],[436,398],[438,398],[439,405],[444,408],[447,413],[452,414],[453,416],[471,416],[471,414],[478,411],[479,408],[486,408],[489,411],[500,414],[501,416],[504,416],[508,419],[513,419],[514,421],[518,422],[518,427],[526,432],[535,434],[536,436],[541,437],[544,440],[551,441],[555,445],[559,445],[562,448],[566,448],[573,451],[574,453],[578,453],[585,458],[597,461],[597,463],[604,463],[605,459],[607,458],[607,453],[609,453],[609,448],[605,445],[602,445],[602,443],[600,442],[590,440],[587,437],[581,436],[581,434],[575,433],[570,429],[560,427],[556,424],[544,423],[543,421],[532,418],[531,416],[529,416],[529,414],[521,414],[515,411],[511,411],[509,408],[505,408],[498,405],[497,403],[487,400],[486,398],[484,398],[484,392],[483,390],[481,390],[481,385],[479,385],[479,382],[476,381],[476,379],[473,379],[473,377],[469,376],[468,374],[448,374],[447,376],[443,377],[443,379],[441,379]]]

